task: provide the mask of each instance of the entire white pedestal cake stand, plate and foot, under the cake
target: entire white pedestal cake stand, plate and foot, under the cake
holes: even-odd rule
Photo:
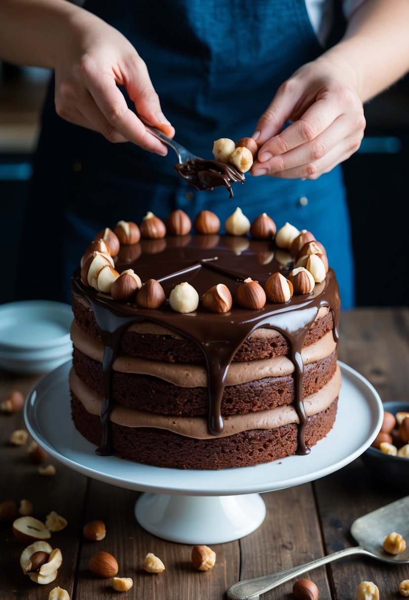
[[[359,373],[339,362],[342,389],[335,425],[306,456],[219,471],[151,467],[100,457],[71,420],[71,361],[40,379],[28,395],[29,433],[62,464],[99,481],[142,491],[138,523],[160,538],[185,544],[218,544],[242,538],[263,523],[261,492],[300,485],[341,469],[359,457],[380,430],[381,399]]]

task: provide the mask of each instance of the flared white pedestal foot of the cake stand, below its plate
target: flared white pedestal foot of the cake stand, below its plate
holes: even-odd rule
[[[182,544],[223,544],[260,527],[266,505],[260,494],[171,496],[143,493],[136,520],[159,538]]]

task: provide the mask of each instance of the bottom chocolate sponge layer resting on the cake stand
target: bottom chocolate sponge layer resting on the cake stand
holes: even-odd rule
[[[304,436],[308,447],[329,433],[335,421],[338,398],[330,406],[308,417]],[[71,410],[77,430],[92,444],[99,445],[101,420],[88,413],[72,394]],[[290,456],[297,451],[299,425],[287,424],[272,430],[243,431],[228,437],[192,439],[172,431],[131,428],[113,423],[111,448],[119,458],[176,469],[225,469],[245,467]]]

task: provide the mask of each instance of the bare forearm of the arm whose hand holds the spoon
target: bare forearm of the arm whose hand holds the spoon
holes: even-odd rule
[[[66,0],[0,0],[0,58],[54,68],[62,47],[73,43],[74,24],[88,18],[97,19]]]

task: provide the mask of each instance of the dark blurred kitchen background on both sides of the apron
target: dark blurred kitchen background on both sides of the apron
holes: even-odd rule
[[[14,298],[16,250],[49,73],[0,62],[0,304]],[[343,164],[353,228],[357,306],[408,304],[409,77],[365,106],[366,131]],[[50,226],[58,226],[52,223]],[[36,232],[21,240],[44,276]]]

